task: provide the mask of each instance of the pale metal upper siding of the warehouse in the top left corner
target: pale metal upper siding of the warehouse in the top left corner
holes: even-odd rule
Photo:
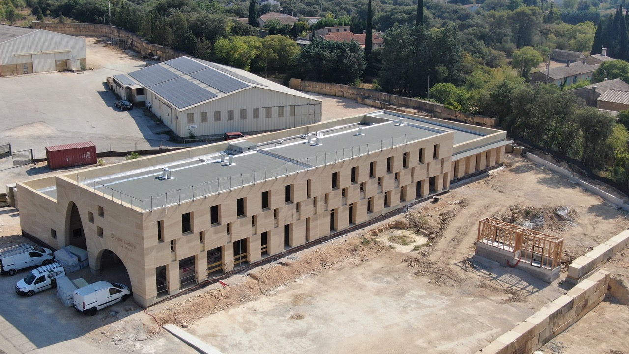
[[[42,54],[53,54],[53,60],[72,59],[72,56],[75,59],[85,59],[85,40],[60,33],[36,31],[0,44],[0,60],[3,66],[32,62],[32,55]]]

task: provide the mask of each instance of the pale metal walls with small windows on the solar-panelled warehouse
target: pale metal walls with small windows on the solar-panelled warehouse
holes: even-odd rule
[[[149,90],[150,92],[150,90]],[[150,92],[147,100],[152,100]],[[216,101],[194,106],[184,111],[172,108],[172,127],[170,108],[153,99],[152,111],[162,117],[165,125],[172,128],[175,134],[186,137],[188,129],[194,135],[213,135],[225,132],[260,132],[263,130],[277,130],[294,128],[321,122],[321,101],[314,98],[303,98],[291,94],[264,88],[248,88],[239,93],[230,94]],[[284,107],[283,117],[278,117],[277,107]],[[295,106],[295,115],[291,115],[291,106]],[[265,108],[271,108],[271,117],[266,117]],[[253,108],[259,108],[260,118],[253,118]],[[247,110],[247,118],[241,119],[240,110]],[[233,110],[233,120],[228,120],[228,110]],[[214,111],[221,112],[221,121],[214,121]],[[201,113],[208,113],[208,122],[201,122]],[[194,114],[194,122],[188,123],[188,113]],[[196,126],[196,127],[194,127]]]

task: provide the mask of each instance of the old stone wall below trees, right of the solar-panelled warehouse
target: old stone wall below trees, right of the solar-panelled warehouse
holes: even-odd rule
[[[396,96],[394,94],[374,91],[371,89],[357,88],[342,84],[318,83],[316,81],[306,81],[301,79],[291,79],[289,87],[298,91],[350,98],[365,105],[403,113],[418,114],[418,110],[423,110],[431,111],[435,118],[440,119],[454,119],[459,122],[482,125],[483,127],[488,128],[496,128],[499,125],[499,120],[496,118],[485,117],[482,115],[470,115],[461,111],[450,110],[450,108],[445,108],[439,103]]]

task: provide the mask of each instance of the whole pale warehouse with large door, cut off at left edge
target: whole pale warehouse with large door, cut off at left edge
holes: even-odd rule
[[[33,28],[0,25],[0,76],[81,70],[85,40]]]

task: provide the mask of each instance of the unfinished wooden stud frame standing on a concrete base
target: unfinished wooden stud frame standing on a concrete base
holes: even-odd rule
[[[538,268],[555,269],[561,265],[564,239],[508,222],[479,220],[477,242],[513,252],[513,258]]]

